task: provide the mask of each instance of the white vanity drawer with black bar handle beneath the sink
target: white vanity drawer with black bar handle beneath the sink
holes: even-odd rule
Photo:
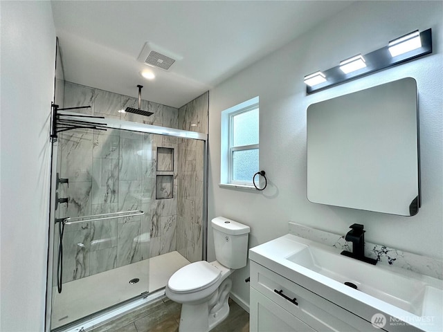
[[[316,331],[383,331],[254,261],[251,287]]]

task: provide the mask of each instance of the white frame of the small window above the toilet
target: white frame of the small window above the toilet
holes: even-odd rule
[[[233,118],[241,113],[252,111],[259,106],[259,98],[255,97],[246,100],[241,104],[226,109],[221,112],[221,167],[220,167],[220,186],[242,187],[246,189],[255,189],[251,181],[234,181],[233,180],[233,154],[234,151],[244,151],[250,149],[258,149],[260,155],[260,142],[254,145],[242,145],[233,147]],[[260,118],[259,118],[260,122]],[[258,172],[258,169],[257,169]]]

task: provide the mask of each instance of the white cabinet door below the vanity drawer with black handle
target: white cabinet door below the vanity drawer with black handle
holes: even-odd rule
[[[310,326],[254,288],[251,288],[249,305],[251,311],[249,316],[250,332],[315,332]]]

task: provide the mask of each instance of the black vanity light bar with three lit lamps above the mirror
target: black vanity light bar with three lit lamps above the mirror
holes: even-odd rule
[[[305,76],[306,93],[327,89],[432,53],[431,29],[408,33],[365,55],[345,59],[338,66]]]

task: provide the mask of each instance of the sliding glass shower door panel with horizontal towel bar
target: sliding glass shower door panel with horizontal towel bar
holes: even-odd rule
[[[149,291],[154,165],[150,134],[59,134],[51,329]]]

